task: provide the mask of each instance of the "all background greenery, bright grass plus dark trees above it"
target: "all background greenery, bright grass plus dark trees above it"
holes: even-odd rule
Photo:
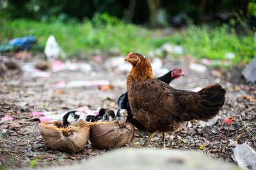
[[[239,64],[254,56],[255,1],[0,0],[0,6],[1,43],[31,34],[38,41],[33,52],[43,52],[54,35],[68,57],[147,55],[164,43],[182,45],[197,59],[229,60],[226,53],[234,53]]]

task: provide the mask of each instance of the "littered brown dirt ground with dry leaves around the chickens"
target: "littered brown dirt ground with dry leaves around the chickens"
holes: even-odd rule
[[[1,55],[2,59],[14,60],[20,66],[40,60],[36,57],[17,59],[15,55]],[[3,60],[0,60],[3,64]],[[78,62],[78,61],[76,61]],[[79,61],[85,62],[85,61]],[[239,68],[207,69],[199,74],[189,69],[193,62],[186,57],[163,59],[168,69],[182,67],[186,77],[173,80],[171,86],[177,89],[193,90],[210,83],[220,82],[227,90],[226,102],[214,125],[205,126],[197,120],[188,122],[179,132],[166,136],[166,148],[202,150],[209,157],[225,162],[234,162],[233,149],[247,142],[256,149],[256,86],[247,84],[240,75]],[[125,92],[128,72],[118,71],[102,62],[90,61],[92,71],[63,70],[47,72],[47,79],[31,78],[20,68],[2,70],[0,78],[0,117],[10,115],[13,120],[0,123],[0,166],[1,167],[46,167],[79,164],[91,157],[108,152],[97,150],[87,143],[78,153],[62,153],[46,145],[38,130],[39,120],[33,118],[32,111],[67,111],[88,106],[92,110],[99,108],[115,109],[120,94]],[[98,87],[77,87],[52,89],[51,85],[59,81],[71,80],[109,80],[113,89],[102,91]],[[225,124],[225,119],[232,119]],[[148,136],[147,131],[136,130],[132,142],[124,147],[142,147]],[[150,147],[161,147],[161,134],[151,141]]]

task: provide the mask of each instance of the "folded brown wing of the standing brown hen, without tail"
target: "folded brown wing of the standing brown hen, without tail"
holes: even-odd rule
[[[179,116],[183,109],[173,94],[173,88],[161,80],[148,79],[131,87],[132,105],[145,113]],[[131,103],[130,103],[131,104]]]

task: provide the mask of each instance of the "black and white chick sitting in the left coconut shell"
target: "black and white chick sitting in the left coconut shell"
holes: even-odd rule
[[[68,127],[68,125],[74,125],[79,120],[83,119],[82,112],[78,110],[72,110],[65,113],[65,115],[62,117],[61,125],[62,127]]]

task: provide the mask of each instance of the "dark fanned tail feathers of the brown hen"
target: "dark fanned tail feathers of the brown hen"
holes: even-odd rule
[[[208,85],[194,94],[198,99],[198,103],[188,107],[188,110],[185,110],[185,112],[191,118],[208,121],[218,115],[225,103],[225,94],[226,90],[218,83]]]

